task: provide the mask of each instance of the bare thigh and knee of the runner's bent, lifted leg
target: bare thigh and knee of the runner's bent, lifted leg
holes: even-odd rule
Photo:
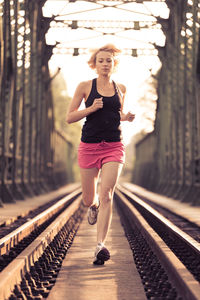
[[[99,175],[97,168],[80,169],[83,204],[90,207],[97,204],[96,187]]]

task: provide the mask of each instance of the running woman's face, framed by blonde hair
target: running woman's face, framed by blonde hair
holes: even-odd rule
[[[100,51],[96,55],[96,71],[98,75],[110,76],[114,69],[114,58],[108,51]]]

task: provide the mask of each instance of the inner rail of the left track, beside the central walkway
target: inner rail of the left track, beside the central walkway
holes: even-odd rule
[[[0,299],[8,299],[15,285],[20,284],[24,274],[42,256],[46,247],[66,224],[81,204],[81,195],[74,192],[77,199],[69,205],[15,260],[0,273]],[[72,197],[65,197],[61,202],[68,202]]]

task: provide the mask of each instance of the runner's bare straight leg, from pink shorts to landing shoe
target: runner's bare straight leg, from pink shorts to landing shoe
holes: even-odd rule
[[[97,243],[105,242],[110,227],[113,193],[122,167],[123,165],[118,162],[108,162],[102,166],[99,193],[100,208],[97,219]]]

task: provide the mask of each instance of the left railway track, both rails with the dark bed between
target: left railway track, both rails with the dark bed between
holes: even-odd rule
[[[0,239],[0,299],[46,298],[85,213],[81,189]]]

